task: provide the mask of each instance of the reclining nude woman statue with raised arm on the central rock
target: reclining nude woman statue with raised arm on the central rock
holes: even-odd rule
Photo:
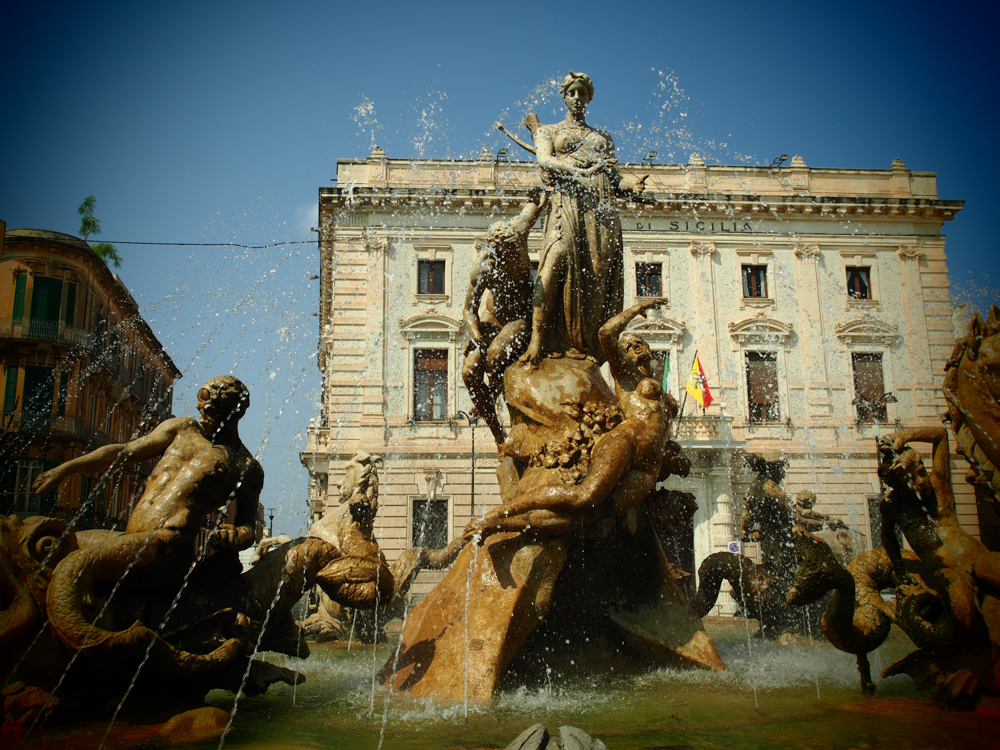
[[[586,476],[575,485],[543,486],[487,513],[466,527],[480,543],[498,532],[531,531],[560,536],[605,516],[621,515],[638,505],[665,474],[686,475],[688,459],[670,450],[670,420],[677,403],[650,377],[649,346],[634,334],[622,336],[632,318],[663,304],[650,300],[619,313],[598,335],[615,379],[615,395],[625,419],[594,444]]]

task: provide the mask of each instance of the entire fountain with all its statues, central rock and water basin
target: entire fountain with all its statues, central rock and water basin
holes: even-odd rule
[[[647,200],[646,180],[622,174],[610,138],[586,124],[589,79],[571,73],[563,93],[567,119],[529,119],[533,145],[519,140],[537,155],[543,188],[486,233],[466,297],[462,375],[496,439],[501,505],[446,547],[415,547],[390,566],[373,540],[378,457],[358,453],[341,485],[343,515],[272,546],[241,573],[234,556],[259,540],[263,476],[235,430],[248,398],[238,381],[211,381],[200,424],[172,420],[139,445],[87,459],[103,467],[166,450],[126,533],[0,518],[6,737],[30,747],[58,722],[86,717],[100,720],[103,736],[67,729],[70,742],[127,745],[148,733],[115,734],[110,724],[134,732],[150,715],[156,732],[201,731],[220,747],[255,748],[499,748],[514,737],[511,747],[612,750],[960,746],[996,731],[996,553],[949,514],[940,461],[927,475],[907,450],[933,440],[946,456],[943,430],[880,444],[890,486],[884,547],[854,555],[859,541],[813,509],[815,495],[780,486],[784,457],[760,453],[749,456],[757,479],[740,539],[761,545],[761,563],[716,553],[693,570],[694,496],[661,484],[684,479],[692,461],[679,444],[676,401],[650,377],[650,348],[634,333],[664,300],[623,309],[614,199]],[[541,217],[529,292],[527,235]],[[977,486],[993,492],[998,328],[996,308],[975,319],[945,380],[952,428]],[[192,449],[199,436],[219,439]],[[199,489],[199,450],[222,448],[227,476]],[[73,469],[43,475],[39,490]],[[197,485],[183,510],[192,528],[209,526],[207,536],[164,524],[155,478],[170,472]],[[230,504],[235,523],[209,521]],[[900,549],[897,526],[913,554]],[[410,608],[415,572],[449,564]],[[703,622],[723,579],[744,617]],[[312,625],[346,634],[346,648],[307,646],[292,619],[314,585],[322,593]],[[760,622],[756,640],[748,615]],[[400,640],[383,644],[394,617]],[[786,631],[797,637],[779,640]],[[366,648],[351,648],[359,638]],[[918,646],[910,655],[908,638]],[[307,655],[304,666],[293,661]],[[869,658],[894,662],[877,670],[876,697]],[[949,706],[987,709],[938,711],[914,684]],[[253,710],[237,714],[241,700]],[[558,732],[536,723],[543,717]]]

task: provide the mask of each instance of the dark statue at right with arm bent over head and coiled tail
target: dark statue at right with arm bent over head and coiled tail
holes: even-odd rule
[[[910,442],[932,444],[930,473],[920,454],[908,447]],[[909,674],[918,688],[929,687],[947,705],[974,706],[982,695],[997,694],[1000,553],[988,550],[959,524],[944,428],[916,428],[882,439],[879,476],[888,487],[879,505],[883,548],[865,553],[870,559],[855,560],[846,569],[855,589],[853,611],[852,582],[845,570],[801,527],[795,538],[799,568],[789,601],[810,601],[821,591],[836,589],[837,606],[831,604],[824,628],[835,646],[858,654],[863,691],[871,692],[874,686],[867,676],[867,659],[861,657],[888,632],[881,622],[884,616],[918,648],[882,675]],[[900,548],[897,527],[912,556]],[[866,574],[871,580],[864,580]],[[879,605],[871,592],[893,584],[895,606]]]

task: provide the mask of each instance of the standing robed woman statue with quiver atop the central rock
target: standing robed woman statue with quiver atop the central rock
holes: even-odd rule
[[[552,191],[533,297],[531,340],[521,358],[535,365],[549,352],[604,362],[597,332],[621,312],[621,218],[615,198],[639,194],[645,177],[622,177],[611,136],[584,115],[594,84],[569,72],[562,82],[566,119],[537,127],[542,182]]]

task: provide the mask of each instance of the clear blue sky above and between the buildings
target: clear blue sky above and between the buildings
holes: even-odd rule
[[[967,201],[945,226],[953,278],[997,265],[996,6],[17,5],[0,11],[9,228],[75,233],[76,207],[95,195],[102,240],[308,239],[317,189],[338,158],[367,155],[372,131],[390,157],[495,151],[492,123],[516,121],[528,101],[551,120],[555,103],[533,92],[572,68],[594,79],[588,120],[615,134],[623,159],[649,147],[664,160],[784,153],[816,167],[898,157],[936,171],[942,198]],[[119,273],[185,373],[175,412],[235,368],[254,398],[243,436],[264,463],[264,503],[279,508],[276,531],[299,533],[297,453],[318,412],[315,246],[119,250]]]

